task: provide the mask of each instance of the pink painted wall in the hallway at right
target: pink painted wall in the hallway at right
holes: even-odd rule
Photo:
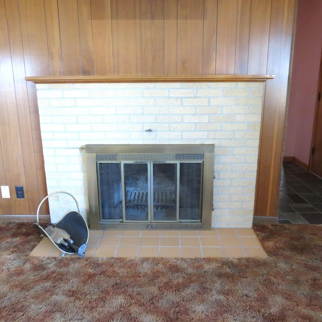
[[[309,164],[319,64],[322,1],[298,0],[284,156]]]

